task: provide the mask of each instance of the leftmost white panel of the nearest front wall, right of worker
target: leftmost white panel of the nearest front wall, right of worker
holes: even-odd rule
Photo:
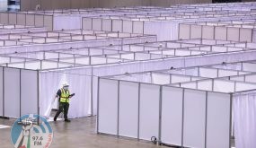
[[[117,135],[118,81],[100,79],[98,132]]]

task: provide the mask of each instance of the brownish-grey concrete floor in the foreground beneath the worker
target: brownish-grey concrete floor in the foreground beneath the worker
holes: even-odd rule
[[[165,148],[150,142],[117,138],[111,135],[95,133],[95,117],[76,118],[70,123],[64,121],[50,122],[54,138],[50,148]],[[0,119],[0,125],[13,126],[14,119]],[[12,148],[11,128],[0,129],[0,147]]]

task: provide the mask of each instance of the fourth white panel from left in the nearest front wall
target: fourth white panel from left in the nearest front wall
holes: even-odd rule
[[[163,87],[162,94],[161,141],[181,146],[183,90]]]

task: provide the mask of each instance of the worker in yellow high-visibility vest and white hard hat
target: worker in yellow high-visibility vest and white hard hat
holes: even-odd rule
[[[68,108],[69,108],[69,99],[75,95],[75,93],[70,94],[69,85],[67,83],[63,84],[63,87],[57,91],[56,97],[59,100],[59,106],[57,113],[54,117],[54,121],[57,120],[58,115],[64,111],[64,118],[65,122],[70,122],[70,120],[67,118]]]

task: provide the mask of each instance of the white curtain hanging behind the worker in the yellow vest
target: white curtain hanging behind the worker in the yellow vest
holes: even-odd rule
[[[91,68],[67,69],[40,73],[40,114],[49,116],[49,111],[56,108],[53,99],[63,83],[69,83],[71,93],[68,118],[83,118],[91,114]]]

